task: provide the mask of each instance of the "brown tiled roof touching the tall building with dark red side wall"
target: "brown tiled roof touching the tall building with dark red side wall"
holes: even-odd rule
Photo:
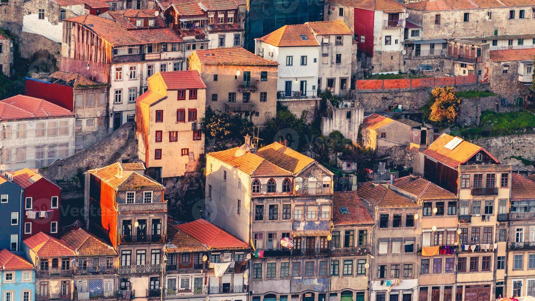
[[[398,178],[394,186],[416,195],[422,200],[455,199],[456,195],[431,183],[422,177],[406,176]]]

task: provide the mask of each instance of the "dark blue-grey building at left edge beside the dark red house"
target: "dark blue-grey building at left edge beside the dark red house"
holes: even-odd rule
[[[0,175],[0,249],[20,251],[24,190]]]

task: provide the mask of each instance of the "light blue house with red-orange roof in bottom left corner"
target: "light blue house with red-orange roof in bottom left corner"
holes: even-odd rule
[[[0,250],[0,266],[0,300],[34,301],[34,266],[7,249]]]

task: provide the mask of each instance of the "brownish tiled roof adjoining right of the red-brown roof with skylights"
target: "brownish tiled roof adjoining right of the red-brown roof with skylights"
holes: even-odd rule
[[[383,184],[366,182],[358,186],[357,193],[361,199],[379,208],[419,207],[415,201],[389,190]]]

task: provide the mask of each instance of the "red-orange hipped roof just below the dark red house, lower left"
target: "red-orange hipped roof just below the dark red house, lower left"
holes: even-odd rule
[[[71,247],[67,245],[64,240],[53,238],[43,232],[39,232],[29,238],[26,238],[23,243],[32,249],[38,257],[62,257],[74,256]]]

